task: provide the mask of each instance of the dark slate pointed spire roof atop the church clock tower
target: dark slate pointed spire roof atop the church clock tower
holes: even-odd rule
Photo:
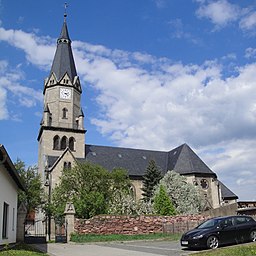
[[[60,81],[66,73],[72,82],[74,81],[74,77],[77,76],[66,18],[64,19],[61,33],[57,40],[57,49],[50,74],[52,73],[55,74],[58,81]]]

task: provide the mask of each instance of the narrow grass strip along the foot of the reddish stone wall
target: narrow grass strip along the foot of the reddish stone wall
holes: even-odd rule
[[[132,240],[173,240],[180,239],[179,234],[145,234],[145,235],[95,235],[95,234],[72,234],[71,241],[76,243],[90,243],[90,242],[110,242],[110,241],[132,241]]]

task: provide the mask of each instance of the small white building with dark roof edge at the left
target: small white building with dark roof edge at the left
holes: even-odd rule
[[[0,144],[0,245],[16,242],[18,190],[24,190],[6,149]]]

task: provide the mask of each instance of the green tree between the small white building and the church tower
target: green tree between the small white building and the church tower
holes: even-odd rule
[[[25,187],[25,191],[20,190],[18,193],[18,203],[23,202],[27,207],[27,212],[38,209],[45,198],[38,168],[36,166],[26,168],[25,163],[20,159],[17,159],[14,166]]]

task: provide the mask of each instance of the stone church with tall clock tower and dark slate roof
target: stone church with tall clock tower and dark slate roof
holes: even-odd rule
[[[51,189],[58,184],[63,168],[88,161],[111,171],[127,170],[136,199],[141,198],[142,181],[150,160],[164,175],[173,170],[199,186],[206,209],[235,203],[238,197],[227,188],[187,144],[170,151],[108,147],[86,144],[82,86],[76,71],[66,15],[49,76],[44,81],[44,109],[38,134],[38,168],[42,179],[50,176]]]

